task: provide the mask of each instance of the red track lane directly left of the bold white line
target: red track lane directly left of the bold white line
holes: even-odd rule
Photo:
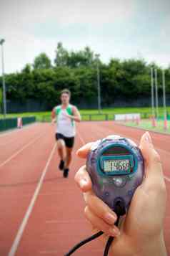
[[[39,133],[46,130],[48,136],[36,141],[16,158],[6,163],[0,171],[0,255],[9,253],[16,232],[24,218],[41,172],[51,152],[54,140],[49,125],[39,126]]]

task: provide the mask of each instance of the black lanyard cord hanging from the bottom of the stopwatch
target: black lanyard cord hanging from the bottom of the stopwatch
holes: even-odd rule
[[[115,225],[118,226],[119,224],[119,219],[122,215],[125,214],[125,209],[124,206],[122,206],[122,204],[117,204],[116,205],[116,209],[115,212],[117,214],[117,220]],[[104,232],[99,231],[96,234],[92,235],[91,237],[86,238],[85,240],[79,242],[79,244],[75,245],[69,252],[67,252],[64,256],[70,256],[72,255],[76,250],[79,249],[79,247],[85,245],[87,242],[91,242],[92,240],[96,239],[97,237],[100,237],[102,234],[104,234]],[[109,253],[109,249],[111,247],[111,243],[113,242],[114,237],[109,237],[108,241],[106,242],[106,247],[104,249],[104,256],[107,256]]]

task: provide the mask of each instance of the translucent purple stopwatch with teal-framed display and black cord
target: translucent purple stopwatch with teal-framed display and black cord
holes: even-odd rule
[[[144,177],[144,161],[141,151],[129,138],[109,136],[96,141],[86,161],[94,193],[105,202],[119,217],[129,209],[134,191]],[[86,242],[94,240],[103,232],[98,232],[76,245],[66,256]],[[114,237],[109,237],[104,255],[108,255]]]

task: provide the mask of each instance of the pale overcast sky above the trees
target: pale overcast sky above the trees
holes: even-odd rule
[[[0,0],[5,71],[16,72],[57,42],[111,57],[170,64],[170,0]],[[0,55],[1,56],[1,55]],[[0,64],[1,68],[1,64]]]

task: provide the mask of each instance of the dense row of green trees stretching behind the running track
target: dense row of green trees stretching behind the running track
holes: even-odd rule
[[[155,63],[147,64],[141,59],[111,59],[106,65],[99,60],[102,104],[111,105],[117,99],[150,98],[151,67],[158,70],[159,93],[162,93],[161,68]],[[33,65],[27,64],[21,72],[6,75],[7,99],[23,103],[33,99],[51,108],[59,103],[60,90],[67,87],[71,90],[73,103],[96,103],[96,75],[96,55],[89,47],[69,52],[59,42],[54,66],[43,52]],[[166,92],[170,94],[170,68],[166,70]]]

